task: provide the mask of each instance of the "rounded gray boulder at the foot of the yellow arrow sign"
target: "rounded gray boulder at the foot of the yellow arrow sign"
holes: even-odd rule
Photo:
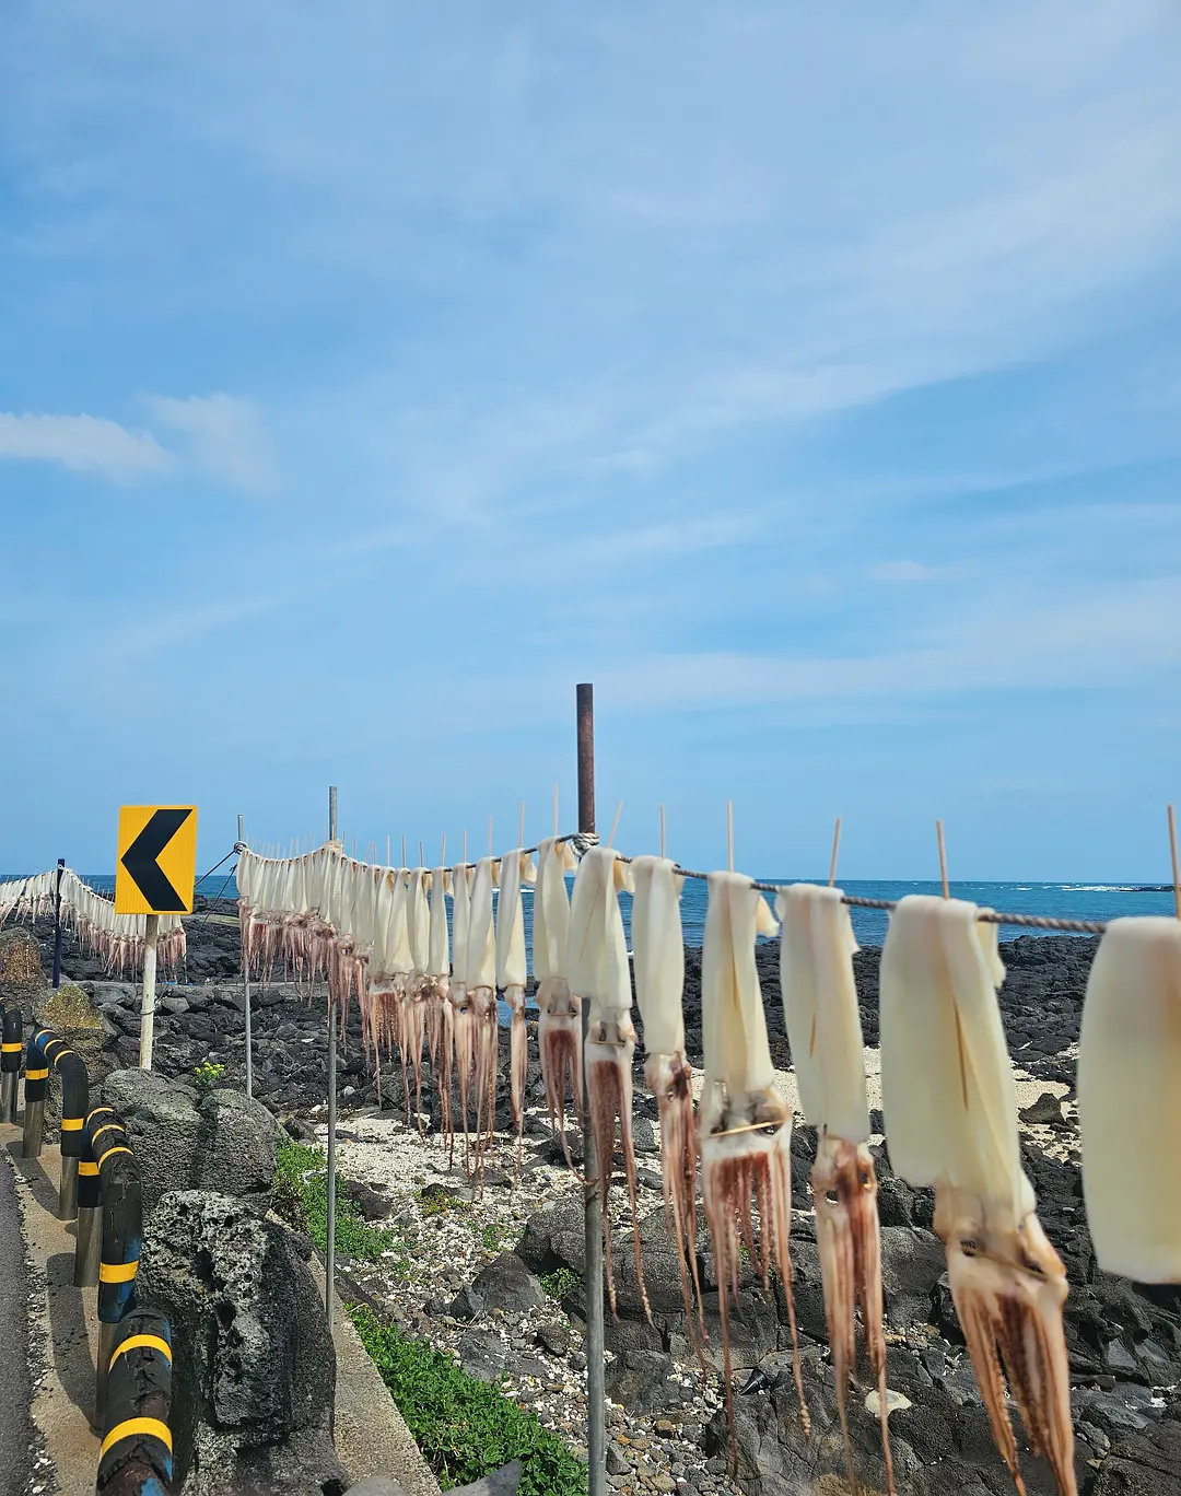
[[[239,1091],[202,1095],[150,1070],[114,1071],[103,1100],[127,1123],[145,1212],[172,1189],[217,1189],[266,1206],[281,1132],[260,1101]]]

